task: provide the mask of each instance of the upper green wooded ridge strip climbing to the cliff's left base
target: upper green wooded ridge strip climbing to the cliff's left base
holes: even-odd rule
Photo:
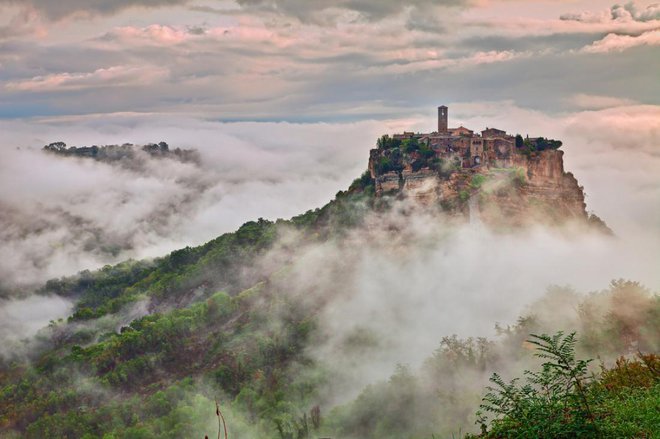
[[[303,241],[317,242],[346,233],[361,224],[374,204],[374,182],[368,172],[346,192],[320,209],[291,220],[263,218],[243,224],[199,247],[185,247],[153,261],[129,260],[96,272],[46,282],[41,294],[76,300],[70,322],[119,313],[148,299],[154,310],[185,306],[219,289],[238,294],[263,278],[251,261],[268,251],[283,230],[294,229]],[[91,335],[85,335],[90,338]]]

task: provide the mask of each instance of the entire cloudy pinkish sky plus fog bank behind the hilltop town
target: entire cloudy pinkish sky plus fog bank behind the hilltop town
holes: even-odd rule
[[[658,72],[651,1],[0,0],[0,287],[322,206],[442,104],[563,140],[588,209],[657,242]],[[201,163],[40,151],[161,140]]]

